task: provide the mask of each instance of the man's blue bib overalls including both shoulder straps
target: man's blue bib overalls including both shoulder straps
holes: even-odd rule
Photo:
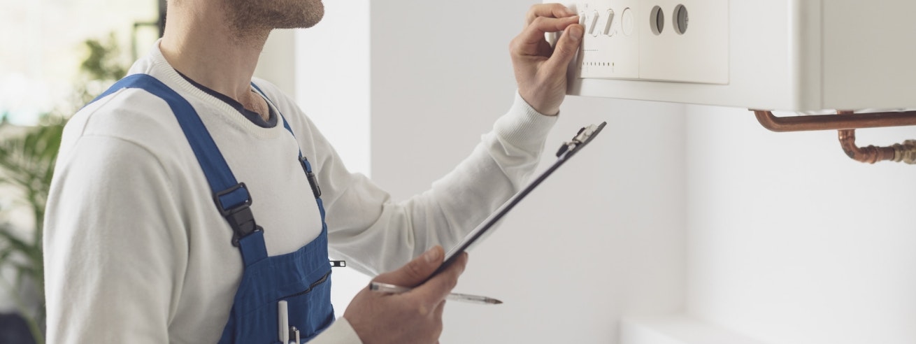
[[[257,87],[252,84],[256,89]],[[328,226],[324,222],[321,189],[311,171],[308,159],[299,162],[322,215],[322,233],[293,253],[268,257],[264,231],[256,225],[251,209],[251,196],[245,183],[238,183],[226,164],[213,137],[201,118],[177,92],[147,74],[125,77],[96,100],[125,88],[138,88],[158,96],[169,104],[181,130],[191,144],[194,156],[213,190],[216,209],[234,231],[233,242],[242,254],[245,271],[235,293],[232,311],[220,343],[268,344],[280,342],[278,336],[278,301],[286,300],[289,326],[300,331],[307,341],[328,328],[334,321],[331,306],[331,264],[328,263]],[[260,91],[260,89],[257,89]],[[263,95],[264,93],[261,92]],[[267,99],[267,96],[265,96]],[[93,101],[94,102],[94,101]],[[282,114],[278,113],[280,118]],[[283,126],[292,133],[286,119]],[[295,135],[295,134],[293,134]],[[290,157],[292,158],[292,157]],[[226,242],[226,244],[230,244]],[[287,343],[283,343],[287,344]]]

